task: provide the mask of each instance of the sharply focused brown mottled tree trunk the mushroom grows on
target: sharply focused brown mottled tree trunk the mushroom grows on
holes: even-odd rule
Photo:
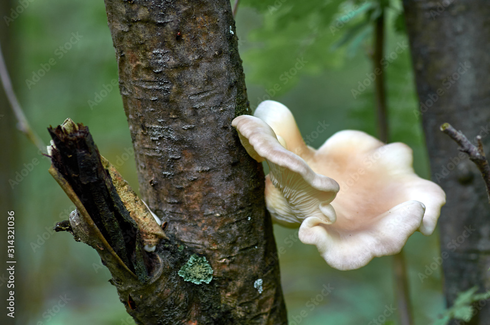
[[[170,238],[154,291],[131,295],[128,312],[138,324],[286,324],[262,166],[231,127],[250,110],[230,2],[105,4],[140,192]],[[194,253],[209,284],[177,274]]]

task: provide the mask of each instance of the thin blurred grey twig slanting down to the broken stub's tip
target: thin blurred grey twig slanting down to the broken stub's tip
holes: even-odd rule
[[[7,95],[7,99],[10,103],[10,107],[14,111],[15,117],[17,118],[17,129],[19,129],[22,133],[27,136],[27,138],[34,143],[36,147],[43,153],[47,153],[46,145],[43,143],[43,140],[37,135],[34,130],[29,125],[29,122],[25,118],[24,111],[15,96],[14,89],[12,87],[12,82],[10,81],[10,77],[7,71],[7,65],[5,64],[5,59],[3,58],[3,54],[0,46],[0,80],[3,85],[3,89],[5,90],[5,94]]]

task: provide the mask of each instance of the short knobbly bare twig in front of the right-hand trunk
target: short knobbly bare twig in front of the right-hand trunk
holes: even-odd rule
[[[485,151],[483,150],[482,137],[480,135],[476,136],[478,146],[475,146],[468,140],[463,132],[456,130],[449,123],[442,124],[441,131],[446,135],[449,135],[451,139],[458,143],[459,151],[466,153],[469,160],[476,164],[476,167],[478,167],[478,170],[480,170],[483,180],[485,181],[485,185],[487,186],[487,194],[490,204],[490,165],[487,157],[485,156]]]

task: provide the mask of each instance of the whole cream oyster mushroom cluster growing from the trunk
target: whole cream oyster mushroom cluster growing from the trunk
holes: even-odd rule
[[[445,194],[437,184],[415,174],[407,145],[384,144],[364,132],[347,130],[332,135],[315,150],[304,143],[284,105],[265,101],[254,115],[239,116],[232,123],[250,156],[257,161],[276,160],[279,150],[270,148],[278,148],[281,141],[280,155],[289,157],[281,159],[281,177],[271,164],[266,177],[266,203],[272,218],[283,225],[300,225],[300,241],[316,245],[330,266],[358,269],[373,257],[398,253],[417,230],[426,236],[433,233]],[[303,168],[307,164],[316,175],[310,179],[326,177],[332,193],[337,192],[335,180],[340,190],[322,203],[306,198],[308,191],[302,189],[308,182],[298,180],[301,173],[290,174],[289,162],[302,162]],[[293,208],[301,201],[324,209]]]

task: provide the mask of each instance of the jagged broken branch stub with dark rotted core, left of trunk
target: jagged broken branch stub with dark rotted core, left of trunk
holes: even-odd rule
[[[139,281],[147,280],[143,246],[154,247],[167,238],[127,182],[100,156],[88,127],[67,119],[49,127],[52,145],[50,174],[70,197],[76,211],[68,230],[75,240],[94,247],[113,273],[128,272]]]

